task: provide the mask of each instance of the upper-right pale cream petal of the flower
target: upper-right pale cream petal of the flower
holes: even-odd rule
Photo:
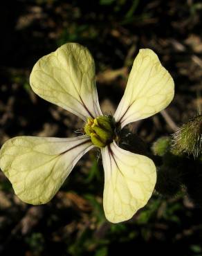
[[[150,49],[140,49],[125,93],[114,114],[121,127],[165,109],[174,97],[174,81]]]

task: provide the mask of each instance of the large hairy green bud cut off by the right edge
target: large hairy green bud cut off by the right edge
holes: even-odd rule
[[[196,116],[179,128],[172,138],[172,153],[183,153],[197,158],[202,151],[202,115]]]

